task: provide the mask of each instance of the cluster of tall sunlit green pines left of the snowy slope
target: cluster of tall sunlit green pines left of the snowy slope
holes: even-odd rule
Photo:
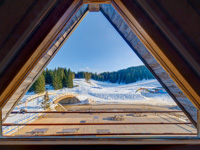
[[[75,74],[67,68],[55,68],[54,70],[46,68],[38,77],[29,92],[42,93],[45,91],[45,85],[53,86],[54,90],[62,88],[73,88],[73,79]]]

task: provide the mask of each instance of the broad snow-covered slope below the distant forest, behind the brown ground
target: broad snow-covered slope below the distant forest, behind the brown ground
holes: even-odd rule
[[[176,105],[168,94],[159,93],[140,93],[136,92],[139,88],[156,88],[161,87],[157,80],[143,80],[131,84],[118,84],[109,82],[100,82],[85,79],[74,79],[72,89],[64,88],[61,90],[50,90],[58,94],[72,92],[79,94],[78,98],[83,102],[87,98],[95,101],[95,104],[102,103],[144,103],[152,105]]]

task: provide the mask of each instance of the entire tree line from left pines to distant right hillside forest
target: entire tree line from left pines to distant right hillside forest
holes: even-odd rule
[[[55,90],[62,88],[73,88],[74,78],[85,78],[88,82],[91,79],[97,81],[108,81],[111,83],[133,83],[143,79],[154,79],[154,76],[145,66],[129,67],[115,72],[103,72],[100,74],[92,72],[74,73],[67,68],[55,68],[54,70],[46,68],[38,77],[29,92],[42,93],[45,91],[45,85],[51,85]]]

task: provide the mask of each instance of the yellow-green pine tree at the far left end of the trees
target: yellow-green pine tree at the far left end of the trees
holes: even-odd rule
[[[34,83],[34,92],[42,93],[44,91],[45,91],[45,78],[44,75],[41,74]]]

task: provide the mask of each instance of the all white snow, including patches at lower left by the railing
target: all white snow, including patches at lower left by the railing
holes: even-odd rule
[[[90,80],[89,83],[85,79],[74,79],[74,88],[63,88],[60,90],[53,90],[52,87],[48,86],[49,93],[55,93],[54,95],[49,95],[50,102],[59,94],[73,93],[78,94],[76,96],[81,103],[80,104],[150,104],[150,105],[167,105],[176,106],[176,103],[167,93],[145,93],[136,92],[139,88],[156,88],[162,87],[157,80],[142,80],[131,84],[118,84]],[[21,103],[17,105],[14,111],[20,111],[20,109],[25,109],[27,111],[41,111],[41,102],[43,96],[34,98],[27,102],[27,107],[25,101],[28,97],[33,96],[33,92],[28,92],[20,101]],[[55,104],[54,104],[55,105]],[[52,105],[52,108],[54,106]],[[6,119],[6,123],[27,123],[32,122],[38,118],[41,114],[11,114],[10,117]],[[17,131],[18,127],[3,127],[4,134],[11,134]],[[22,128],[22,127],[21,127]]]

